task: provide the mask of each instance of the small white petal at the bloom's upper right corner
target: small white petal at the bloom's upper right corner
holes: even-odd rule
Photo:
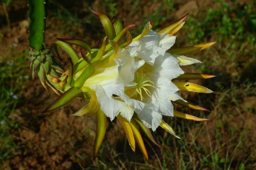
[[[158,46],[170,49],[175,43],[176,36],[169,36],[169,34],[158,34]]]

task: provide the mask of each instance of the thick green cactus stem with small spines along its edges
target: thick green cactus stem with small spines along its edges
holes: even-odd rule
[[[27,0],[29,5],[29,47],[44,49],[44,30],[47,17],[47,0]]]

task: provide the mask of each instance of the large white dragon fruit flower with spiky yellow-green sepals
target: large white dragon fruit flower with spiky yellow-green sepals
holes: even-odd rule
[[[160,147],[154,140],[150,129],[155,131],[160,126],[179,138],[172,127],[164,122],[163,116],[175,116],[195,121],[207,120],[175,111],[172,104],[208,111],[187,102],[178,91],[197,93],[212,93],[212,91],[201,85],[179,80],[215,77],[206,74],[184,73],[180,68],[181,65],[202,63],[184,55],[200,51],[215,43],[172,48],[176,40],[174,34],[182,28],[188,14],[158,32],[152,30],[153,22],[148,22],[142,33],[132,38],[128,29],[134,25],[123,28],[123,20],[120,18],[113,17],[110,20],[105,14],[92,10],[91,12],[101,21],[106,37],[102,45],[99,45],[99,41],[93,48],[89,43],[80,39],[58,39],[51,45],[50,50],[59,62],[62,60],[57,46],[69,54],[70,66],[59,78],[55,79],[51,78],[51,74],[42,71],[41,74],[44,74],[46,79],[51,79],[47,81],[47,84],[57,94],[60,94],[58,99],[43,113],[59,108],[76,97],[86,100],[88,103],[74,115],[90,117],[96,114],[97,116],[93,159],[96,159],[104,139],[107,117],[111,121],[117,117],[125,130],[131,149],[135,151],[136,142],[146,159],[148,159],[148,153],[139,127],[153,144]],[[118,44],[125,34],[126,42]],[[82,57],[80,58],[69,44],[78,45],[88,52],[84,54],[81,50]]]

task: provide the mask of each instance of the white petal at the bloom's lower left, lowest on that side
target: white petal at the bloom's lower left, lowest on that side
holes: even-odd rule
[[[114,88],[112,88],[113,92],[119,91],[113,89]],[[100,105],[100,109],[112,121],[115,118],[115,116],[117,116],[119,112],[127,106],[127,104],[125,104],[125,102],[115,100],[112,98],[112,95],[111,97],[109,97],[109,95],[109,93],[106,94],[106,91],[104,90],[104,88],[102,88],[101,85],[96,86],[96,96]]]

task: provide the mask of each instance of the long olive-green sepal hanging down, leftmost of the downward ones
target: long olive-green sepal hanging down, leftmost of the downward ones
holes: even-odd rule
[[[99,149],[102,145],[102,141],[104,139],[106,130],[107,130],[107,117],[102,112],[102,110],[98,110],[97,113],[97,130],[96,130],[96,136],[93,146],[93,160],[96,159],[99,153]]]

